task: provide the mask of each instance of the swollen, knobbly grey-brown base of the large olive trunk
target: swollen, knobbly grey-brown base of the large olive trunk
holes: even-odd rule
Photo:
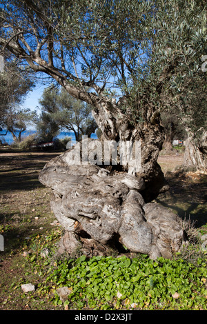
[[[94,143],[99,141],[90,139],[88,155]],[[152,259],[170,258],[179,251],[183,230],[177,216],[145,201],[144,170],[130,174],[116,170],[117,165],[78,165],[75,160],[72,164],[78,145],[52,159],[39,174],[39,181],[54,193],[51,207],[66,230],[62,250],[72,252],[88,240],[98,245],[121,243]]]

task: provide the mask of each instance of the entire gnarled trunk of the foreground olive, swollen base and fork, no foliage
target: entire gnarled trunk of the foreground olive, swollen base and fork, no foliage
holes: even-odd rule
[[[181,247],[183,231],[175,214],[150,203],[166,185],[157,164],[164,141],[159,116],[151,112],[144,123],[132,128],[119,104],[110,101],[102,102],[93,114],[103,141],[83,140],[50,161],[39,175],[41,183],[52,188],[52,210],[66,229],[61,250],[72,252],[84,243],[98,250],[121,244],[152,259],[170,258]],[[136,160],[120,163],[121,144],[118,163],[104,164],[104,140],[139,141],[139,168]],[[99,164],[88,163],[98,155]]]

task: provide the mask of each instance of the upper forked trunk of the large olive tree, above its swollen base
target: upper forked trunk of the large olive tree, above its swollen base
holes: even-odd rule
[[[95,105],[92,110],[93,117],[102,131],[103,139],[119,141],[140,141],[141,143],[141,170],[139,176],[144,178],[146,190],[143,192],[146,202],[152,201],[157,195],[166,190],[168,185],[164,179],[164,174],[157,163],[159,151],[164,142],[164,129],[161,121],[153,108],[148,107],[145,121],[132,125],[121,108],[124,99],[118,103],[106,100]],[[129,166],[123,170],[130,172]]]

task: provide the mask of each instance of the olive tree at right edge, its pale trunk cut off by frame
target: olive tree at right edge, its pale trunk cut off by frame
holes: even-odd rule
[[[164,15],[164,10],[168,15]],[[206,1],[164,1],[157,8],[153,43],[154,68],[166,73],[162,110],[177,112],[186,132],[185,165],[205,170],[207,153],[207,105],[204,66]],[[207,61],[207,60],[206,60]]]

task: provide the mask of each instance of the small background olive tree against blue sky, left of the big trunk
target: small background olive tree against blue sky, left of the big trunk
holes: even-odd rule
[[[50,119],[59,128],[75,133],[76,141],[81,140],[82,135],[90,137],[97,128],[97,123],[92,118],[91,105],[73,98],[63,88],[59,91],[54,85],[50,85],[44,90],[39,103],[43,112],[50,114]]]

